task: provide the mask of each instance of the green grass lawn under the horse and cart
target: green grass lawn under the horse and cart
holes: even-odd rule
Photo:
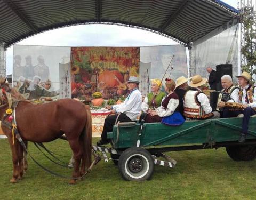
[[[95,143],[98,139],[93,139]],[[71,155],[63,140],[47,143],[55,153]],[[29,143],[29,152],[53,171],[71,175],[71,170],[56,166]],[[218,150],[177,151],[175,169],[155,166],[150,181],[129,182],[119,175],[111,161],[101,161],[83,181],[69,185],[39,168],[30,158],[23,180],[12,184],[11,150],[0,140],[0,199],[255,199],[256,161],[235,162],[225,148]],[[67,163],[69,158],[62,158]]]

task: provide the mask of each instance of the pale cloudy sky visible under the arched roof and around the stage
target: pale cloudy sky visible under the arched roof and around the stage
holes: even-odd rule
[[[222,0],[237,8],[237,0]],[[46,31],[17,43],[43,46],[152,46],[178,44],[149,31],[115,25],[78,25]],[[6,51],[6,75],[12,74],[13,47]]]

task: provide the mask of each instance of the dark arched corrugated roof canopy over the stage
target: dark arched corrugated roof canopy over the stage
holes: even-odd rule
[[[107,23],[145,29],[188,46],[238,14],[220,0],[0,0],[0,42],[9,47],[51,29]]]

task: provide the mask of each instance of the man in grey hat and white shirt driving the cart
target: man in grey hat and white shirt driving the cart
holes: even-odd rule
[[[107,132],[113,131],[113,126],[115,125],[118,115],[117,121],[120,122],[135,121],[140,115],[142,95],[138,89],[139,83],[138,77],[130,76],[129,81],[127,81],[127,88],[129,90],[128,97],[121,104],[106,107],[109,110],[111,109],[113,115],[109,115],[105,119],[101,140],[97,142],[97,146],[105,145],[110,142],[110,140],[107,139]]]

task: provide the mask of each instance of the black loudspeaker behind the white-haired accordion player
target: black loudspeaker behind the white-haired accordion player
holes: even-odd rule
[[[221,86],[221,77],[225,74],[232,76],[232,65],[231,64],[221,64],[216,66],[216,89],[220,91],[222,89]]]

